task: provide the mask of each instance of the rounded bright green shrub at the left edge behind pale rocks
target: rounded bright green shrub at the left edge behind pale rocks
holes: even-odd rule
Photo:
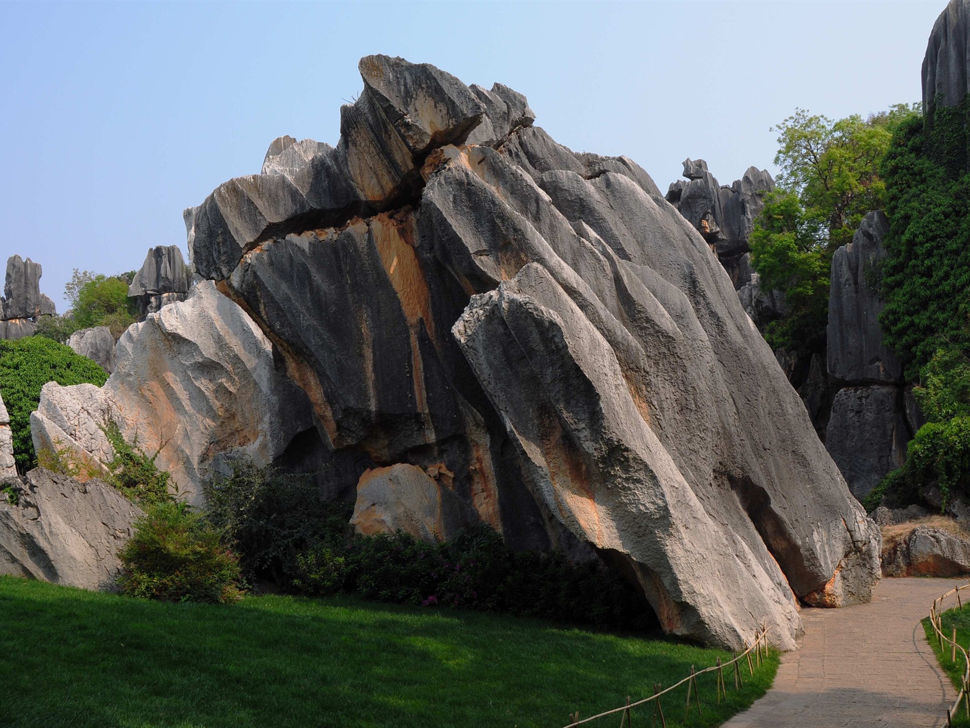
[[[14,436],[14,459],[22,472],[36,464],[30,437],[30,413],[37,409],[41,387],[84,382],[101,386],[107,381],[100,366],[76,354],[70,347],[31,336],[17,341],[0,341],[0,394],[10,414]]]

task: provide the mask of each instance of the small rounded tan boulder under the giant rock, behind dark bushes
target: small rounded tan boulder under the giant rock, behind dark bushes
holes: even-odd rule
[[[434,473],[407,463],[368,470],[357,483],[350,522],[365,536],[401,530],[424,541],[449,540],[470,509],[444,482],[445,474]]]

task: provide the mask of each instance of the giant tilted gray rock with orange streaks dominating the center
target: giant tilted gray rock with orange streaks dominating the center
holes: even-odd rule
[[[796,598],[868,599],[878,529],[649,176],[557,144],[504,87],[360,69],[336,148],[277,141],[267,174],[185,215],[196,272],[312,404],[332,486],[359,513],[599,559],[665,630],[718,645],[763,619],[792,647]],[[396,468],[413,479],[361,479]]]

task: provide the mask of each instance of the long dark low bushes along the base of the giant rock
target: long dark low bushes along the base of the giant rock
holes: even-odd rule
[[[484,524],[447,543],[403,532],[361,536],[348,523],[349,506],[324,500],[311,480],[250,463],[210,483],[207,497],[243,574],[287,591],[627,628],[645,626],[651,613],[637,590],[597,562],[515,551]]]

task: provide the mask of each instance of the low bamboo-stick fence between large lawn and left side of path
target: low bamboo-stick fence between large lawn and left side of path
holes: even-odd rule
[[[968,584],[970,586],[970,584]],[[661,704],[661,698],[668,695],[673,690],[676,690],[681,685],[687,685],[687,702],[684,709],[684,720],[691,714],[692,698],[696,707],[698,715],[703,715],[703,710],[700,706],[700,691],[697,688],[697,678],[701,675],[707,673],[715,674],[715,688],[717,690],[717,702],[721,703],[722,699],[727,700],[727,682],[733,679],[734,689],[740,690],[741,686],[744,684],[742,665],[746,664],[748,666],[749,677],[754,677],[755,667],[760,667],[761,662],[768,656],[768,628],[767,625],[761,624],[755,631],[755,642],[746,647],[746,649],[739,653],[733,654],[733,659],[722,663],[721,658],[718,658],[716,665],[712,667],[705,668],[704,670],[695,670],[694,666],[691,666],[691,674],[686,678],[682,679],[680,682],[676,682],[666,689],[661,689],[661,685],[654,684],[654,694],[649,698],[644,698],[643,700],[638,700],[635,703],[630,703],[630,697],[627,698],[627,705],[621,706],[620,708],[614,708],[612,711],[600,712],[596,715],[591,715],[588,718],[579,718],[579,711],[575,713],[569,713],[570,723],[567,723],[563,728],[573,728],[573,726],[583,725],[584,723],[592,723],[594,720],[604,718],[607,715],[616,715],[619,712],[623,713],[620,718],[620,728],[630,728],[630,720],[632,719],[632,709],[638,708],[640,706],[645,706],[648,703],[653,703],[653,712],[651,716],[651,725],[660,721],[662,728],[666,728],[666,716],[663,714],[663,705]],[[964,655],[966,653],[964,652]],[[728,677],[725,677],[725,671],[729,672]],[[670,703],[668,702],[669,706]]]

